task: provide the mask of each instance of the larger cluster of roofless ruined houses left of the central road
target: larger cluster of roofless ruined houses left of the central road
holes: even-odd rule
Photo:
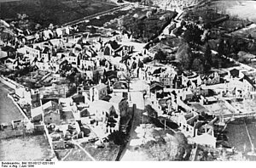
[[[13,83],[18,104],[23,108],[26,105],[30,107],[23,110],[34,126],[47,127],[54,149],[68,148],[70,141],[76,138],[88,141],[96,134],[96,137],[103,139],[119,131],[120,118],[127,114],[129,108],[127,94],[109,94],[109,89],[118,86],[116,81],[125,73],[119,73],[118,77],[117,70],[126,70],[125,64],[120,61],[132,52],[131,46],[122,45],[114,39],[89,39],[83,35],[50,36],[42,41],[26,43],[17,49],[5,42],[3,48],[13,48],[11,54],[14,57],[8,53],[1,58],[8,70],[22,70],[29,65],[35,67],[34,70],[46,72],[41,81],[52,83],[28,88],[3,76],[3,80]],[[67,91],[70,86],[67,86],[67,82],[58,84],[65,81],[65,77],[60,76],[63,67],[71,67],[64,71],[65,74],[72,74],[76,69],[76,73],[85,76],[86,81],[93,81],[94,78],[99,80],[89,86],[80,83],[76,86],[76,92],[69,97]],[[95,70],[99,72],[96,75]],[[101,82],[103,76],[107,77],[105,83]],[[127,90],[127,87],[122,89]]]

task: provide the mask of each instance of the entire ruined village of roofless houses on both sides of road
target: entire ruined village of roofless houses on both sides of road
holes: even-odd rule
[[[0,61],[8,70],[32,66],[47,72],[41,81],[51,84],[48,86],[35,89],[11,82],[20,106],[30,105],[26,115],[35,126],[47,127],[55,149],[70,147],[73,139],[89,140],[95,135],[103,139],[112,132],[125,132],[121,120],[130,106],[127,74],[147,81],[148,102],[159,116],[176,122],[192,143],[213,148],[217,142],[213,123],[241,113],[229,100],[256,98],[255,80],[241,66],[212,69],[201,76],[153,60],[154,53],[120,32],[90,37],[90,32],[70,32],[76,29],[52,28],[28,36],[19,31],[14,42],[0,39]],[[255,58],[251,55],[249,59]],[[75,92],[68,96],[73,86],[67,78],[78,74],[84,77],[83,82],[72,83]]]

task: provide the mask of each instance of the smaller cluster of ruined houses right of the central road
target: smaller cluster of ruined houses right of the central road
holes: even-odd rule
[[[157,70],[165,74],[165,64],[154,64]],[[212,70],[208,76],[199,76],[195,72],[178,73],[169,71],[169,84],[160,81],[145,70],[151,78],[149,99],[159,115],[167,114],[176,122],[181,132],[191,137],[192,143],[216,147],[217,138],[213,123],[221,117],[230,118],[241,114],[229,100],[255,99],[256,85],[241,67]],[[153,74],[153,75],[152,75]],[[164,112],[164,113],[163,113]],[[251,113],[253,111],[247,111]],[[199,116],[211,116],[209,120],[200,120]]]

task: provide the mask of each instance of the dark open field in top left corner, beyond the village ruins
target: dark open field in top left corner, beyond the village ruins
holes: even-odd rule
[[[61,25],[78,20],[115,6],[115,4],[106,3],[105,0],[86,0],[79,3],[70,0],[23,0],[19,3],[1,3],[0,18],[16,20],[17,14],[26,14],[29,25],[38,23],[45,27],[50,23]]]

